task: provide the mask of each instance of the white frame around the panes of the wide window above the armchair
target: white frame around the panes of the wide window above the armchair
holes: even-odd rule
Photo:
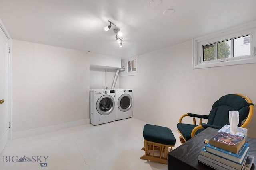
[[[203,61],[203,46],[243,37],[246,35],[250,35],[250,55],[233,57],[233,42],[231,42],[231,58]],[[193,39],[193,69],[256,63],[255,46],[256,21]]]

